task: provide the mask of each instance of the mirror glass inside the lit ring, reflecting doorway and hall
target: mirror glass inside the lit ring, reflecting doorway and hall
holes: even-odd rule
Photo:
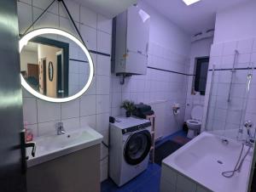
[[[84,88],[90,66],[84,51],[60,35],[32,38],[20,52],[20,71],[38,93],[50,98],[67,98]]]

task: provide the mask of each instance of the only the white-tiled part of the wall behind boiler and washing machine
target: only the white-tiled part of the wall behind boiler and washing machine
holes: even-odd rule
[[[154,42],[149,43],[148,67],[183,72],[187,58]],[[187,76],[169,71],[147,69],[145,76],[131,76],[125,84],[119,84],[119,77],[112,76],[112,116],[122,114],[121,101],[131,99],[135,103],[150,104],[157,116],[156,137],[176,132],[183,125]],[[179,103],[180,114],[174,116],[172,104]]]

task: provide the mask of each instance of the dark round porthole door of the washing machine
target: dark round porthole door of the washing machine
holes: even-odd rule
[[[148,155],[151,148],[151,135],[148,130],[139,131],[131,134],[127,138],[124,157],[130,165],[137,165]]]

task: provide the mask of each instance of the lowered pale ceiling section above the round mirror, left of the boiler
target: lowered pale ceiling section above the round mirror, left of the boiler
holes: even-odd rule
[[[132,4],[137,3],[137,0],[75,0],[84,6],[91,8],[98,14],[102,14],[109,19],[112,19],[117,14],[125,11]]]

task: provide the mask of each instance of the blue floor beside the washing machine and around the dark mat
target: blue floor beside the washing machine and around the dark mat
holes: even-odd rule
[[[159,146],[166,140],[172,140],[176,136],[186,137],[186,134],[183,131],[174,133],[161,139],[156,146]],[[102,182],[102,192],[160,192],[160,166],[149,163],[146,171],[120,188],[111,179],[107,179]]]

